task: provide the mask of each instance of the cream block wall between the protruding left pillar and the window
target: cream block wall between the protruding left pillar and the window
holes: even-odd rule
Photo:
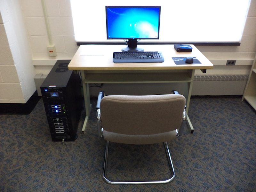
[[[41,0],[20,0],[33,64],[37,73],[48,74],[58,59],[72,59],[78,49],[75,42],[72,12],[69,0],[44,0],[52,42],[57,56],[49,57],[49,40]]]

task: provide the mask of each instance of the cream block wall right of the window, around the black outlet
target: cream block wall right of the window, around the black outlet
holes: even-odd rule
[[[240,46],[198,46],[197,48],[214,65],[212,70],[207,71],[208,74],[248,75],[256,52],[256,0],[251,0]],[[227,60],[236,60],[236,65],[225,66]]]

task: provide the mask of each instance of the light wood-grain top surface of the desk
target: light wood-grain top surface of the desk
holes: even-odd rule
[[[172,70],[211,69],[212,63],[194,46],[192,52],[176,52],[173,45],[138,45],[144,51],[160,51],[162,63],[114,63],[113,52],[121,52],[124,45],[80,45],[68,64],[70,70]],[[202,64],[176,65],[172,57],[196,57]]]

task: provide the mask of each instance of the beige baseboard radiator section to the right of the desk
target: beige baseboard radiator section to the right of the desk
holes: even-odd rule
[[[194,76],[191,95],[243,95],[249,75]]]

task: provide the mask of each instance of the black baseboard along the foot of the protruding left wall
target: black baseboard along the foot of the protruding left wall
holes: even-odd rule
[[[30,97],[27,103],[0,103],[1,115],[28,115],[35,108],[41,97],[37,91]]]

